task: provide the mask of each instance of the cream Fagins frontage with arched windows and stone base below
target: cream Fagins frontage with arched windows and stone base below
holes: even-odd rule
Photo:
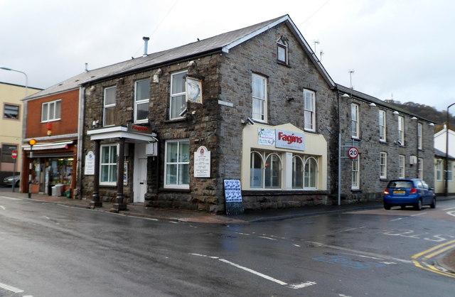
[[[327,141],[292,124],[246,125],[242,135],[245,208],[323,204],[327,199]]]

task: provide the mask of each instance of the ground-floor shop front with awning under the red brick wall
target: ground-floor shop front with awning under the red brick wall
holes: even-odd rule
[[[31,193],[73,198],[77,154],[75,141],[36,144],[32,149],[23,146],[23,150],[26,156],[23,192],[28,191],[28,178],[31,176]]]

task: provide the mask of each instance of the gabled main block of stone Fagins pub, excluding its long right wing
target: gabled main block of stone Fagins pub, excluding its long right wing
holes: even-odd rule
[[[240,180],[246,209],[327,202],[336,84],[289,16],[105,72],[83,85],[84,153],[100,156],[83,175],[93,206],[221,212],[224,180]],[[198,168],[201,148],[210,170]]]

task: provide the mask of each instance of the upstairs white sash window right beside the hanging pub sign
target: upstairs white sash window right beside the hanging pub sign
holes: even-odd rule
[[[188,72],[177,72],[171,75],[171,102],[169,104],[169,119],[181,119],[181,113],[186,109],[186,75]]]

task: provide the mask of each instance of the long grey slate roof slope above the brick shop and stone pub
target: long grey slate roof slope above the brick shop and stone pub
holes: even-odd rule
[[[261,33],[272,26],[276,26],[277,23],[282,23],[284,21],[289,21],[291,26],[294,26],[291,19],[288,15],[280,16],[278,18],[273,18],[269,21],[264,21],[262,23],[257,23],[246,28],[241,28],[235,31],[230,31],[227,33],[220,34],[218,36],[213,36],[211,38],[206,38],[202,41],[196,41],[194,43],[188,43],[186,45],[181,45],[177,48],[171,48],[170,50],[164,50],[158,53],[151,53],[145,57],[134,58],[132,60],[126,60],[121,63],[109,65],[103,68],[97,68],[95,70],[90,70],[88,72],[82,72],[75,77],[71,77],[68,80],[48,87],[47,89],[38,92],[32,96],[27,97],[25,100],[36,99],[40,97],[45,97],[48,95],[58,94],[60,92],[66,92],[69,90],[75,90],[80,85],[83,85],[87,82],[102,80],[107,77],[123,75],[128,72],[139,71],[141,69],[158,67],[164,63],[172,63],[176,60],[184,60],[186,58],[191,58],[196,55],[203,55],[211,52],[218,52],[223,50],[228,52],[230,48],[237,45],[242,41],[246,41],[248,38],[251,38],[255,33]],[[306,43],[306,41],[304,41]],[[309,45],[308,45],[309,47]],[[325,72],[325,70],[324,70]]]

